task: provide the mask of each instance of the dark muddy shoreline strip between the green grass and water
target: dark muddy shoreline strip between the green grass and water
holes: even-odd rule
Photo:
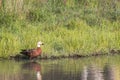
[[[108,53],[96,52],[96,53],[89,54],[89,55],[73,54],[73,55],[68,55],[68,56],[64,56],[64,55],[61,55],[61,56],[51,56],[51,57],[44,56],[44,57],[38,57],[36,59],[38,59],[38,60],[47,60],[47,59],[63,59],[63,58],[87,58],[87,57],[99,57],[99,56],[107,56],[107,55],[111,56],[111,55],[116,55],[116,54],[119,55],[120,54],[120,50],[112,49]],[[20,54],[17,54],[15,56],[10,56],[9,58],[2,58],[2,57],[0,57],[0,60],[4,60],[4,59],[8,59],[8,60],[29,60],[28,57],[20,55]]]

